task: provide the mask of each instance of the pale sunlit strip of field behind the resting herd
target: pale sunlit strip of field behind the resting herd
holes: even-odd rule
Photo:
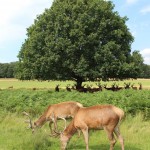
[[[138,83],[142,83],[143,89],[150,89],[150,79],[137,79],[137,80],[124,80],[124,81],[116,81],[119,86],[124,86],[124,82],[126,83],[134,83],[134,86],[139,87]],[[60,84],[60,88],[65,88],[67,84],[73,85],[75,82],[73,81],[20,81],[17,79],[0,79],[0,88],[7,89],[9,87],[13,87],[14,89],[18,88],[45,88],[45,89],[54,89],[57,84]],[[83,84],[89,84],[96,86],[96,82],[83,82]],[[109,82],[101,82],[102,84],[107,84],[110,86],[114,81]]]

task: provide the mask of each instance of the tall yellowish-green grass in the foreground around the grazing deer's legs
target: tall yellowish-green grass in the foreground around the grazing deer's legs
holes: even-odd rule
[[[59,138],[49,136],[48,124],[32,134],[26,129],[24,118],[15,113],[1,114],[0,117],[0,150],[59,150]],[[150,121],[143,121],[141,114],[126,119],[121,124],[121,133],[125,139],[126,150],[149,150]],[[109,149],[109,141],[105,132],[90,131],[89,147],[91,150]],[[84,150],[83,135],[75,134],[68,144],[70,150]],[[120,150],[119,141],[115,150]]]

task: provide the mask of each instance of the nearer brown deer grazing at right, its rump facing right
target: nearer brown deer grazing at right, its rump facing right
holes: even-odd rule
[[[61,150],[65,150],[71,137],[80,129],[83,133],[86,150],[89,150],[90,129],[103,129],[106,131],[110,141],[110,150],[113,150],[116,143],[114,134],[119,139],[122,150],[124,150],[124,140],[120,134],[120,122],[124,118],[124,111],[113,105],[96,105],[83,107],[78,110],[74,119],[60,135]]]

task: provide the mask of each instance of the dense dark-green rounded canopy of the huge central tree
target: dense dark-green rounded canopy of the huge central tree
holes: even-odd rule
[[[127,17],[105,0],[54,0],[27,29],[19,52],[19,79],[134,78],[133,36]]]

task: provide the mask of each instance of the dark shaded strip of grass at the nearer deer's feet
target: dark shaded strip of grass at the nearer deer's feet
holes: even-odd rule
[[[89,145],[89,149],[90,150],[98,150],[98,149],[100,149],[100,150],[109,150],[109,144],[99,144],[99,145]],[[86,149],[86,147],[85,147],[85,145],[70,145],[69,147],[68,147],[68,149],[67,150],[69,150],[69,149],[71,149],[71,150],[85,150]],[[141,148],[138,148],[138,147],[136,147],[136,146],[128,146],[128,145],[125,145],[125,149],[126,150],[142,150]],[[114,147],[114,150],[121,150],[121,146],[120,145],[115,145],[115,147]]]

